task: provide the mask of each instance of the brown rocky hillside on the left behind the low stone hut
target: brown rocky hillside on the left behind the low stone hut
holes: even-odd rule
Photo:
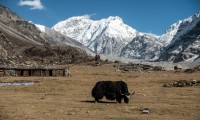
[[[73,43],[70,40],[68,42]],[[0,65],[60,64],[88,59],[90,56],[81,49],[80,43],[79,47],[62,45],[34,24],[0,5]]]

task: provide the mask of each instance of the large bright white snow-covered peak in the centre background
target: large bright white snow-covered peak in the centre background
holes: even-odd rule
[[[118,16],[101,20],[76,16],[57,23],[52,29],[76,39],[93,51],[112,56],[118,56],[121,49],[138,34]]]

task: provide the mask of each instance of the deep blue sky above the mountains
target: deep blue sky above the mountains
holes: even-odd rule
[[[200,11],[200,0],[1,0],[22,18],[52,27],[72,16],[94,20],[119,16],[140,32],[161,35],[173,23]]]

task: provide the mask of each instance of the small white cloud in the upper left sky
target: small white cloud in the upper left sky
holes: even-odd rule
[[[42,5],[40,0],[20,0],[18,5],[20,5],[20,6],[24,6],[24,5],[31,6],[31,10],[35,10],[35,9],[42,10],[42,9],[44,9],[44,6]]]

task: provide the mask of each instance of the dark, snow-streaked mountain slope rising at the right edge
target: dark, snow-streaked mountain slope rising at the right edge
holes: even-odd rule
[[[170,39],[166,39],[167,43],[159,60],[180,62],[200,58],[200,12],[170,28],[163,35]]]

